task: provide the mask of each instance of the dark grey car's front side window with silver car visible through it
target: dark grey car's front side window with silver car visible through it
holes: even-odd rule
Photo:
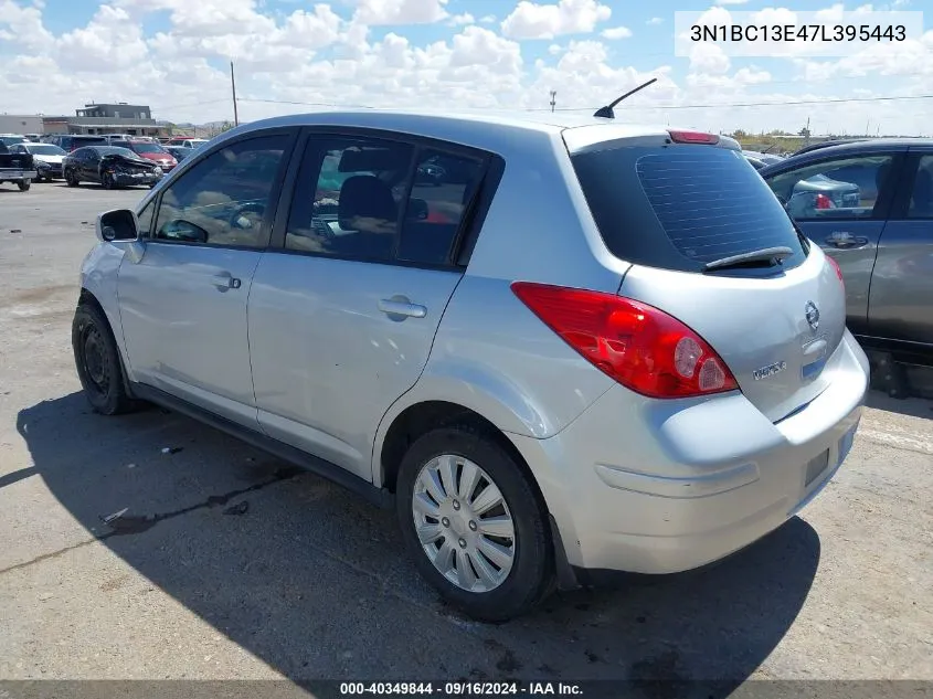
[[[870,219],[892,156],[852,156],[774,174],[767,183],[799,221]]]

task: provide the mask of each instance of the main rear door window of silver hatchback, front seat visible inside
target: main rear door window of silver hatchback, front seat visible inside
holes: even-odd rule
[[[285,246],[391,260],[412,151],[405,144],[370,138],[311,138],[298,171]]]

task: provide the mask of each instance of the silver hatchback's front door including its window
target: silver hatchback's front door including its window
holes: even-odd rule
[[[295,135],[244,136],[167,183],[119,273],[135,379],[254,428],[246,299]]]

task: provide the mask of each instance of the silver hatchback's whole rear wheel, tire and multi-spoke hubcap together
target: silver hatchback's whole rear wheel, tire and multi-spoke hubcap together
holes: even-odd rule
[[[420,437],[402,459],[396,507],[422,575],[470,616],[512,618],[550,591],[547,515],[490,433],[465,424]]]

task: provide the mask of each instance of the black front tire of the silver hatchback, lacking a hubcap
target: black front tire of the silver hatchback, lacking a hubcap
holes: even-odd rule
[[[78,304],[72,321],[72,349],[84,395],[102,415],[136,407],[126,392],[123,364],[110,325],[95,305]]]

